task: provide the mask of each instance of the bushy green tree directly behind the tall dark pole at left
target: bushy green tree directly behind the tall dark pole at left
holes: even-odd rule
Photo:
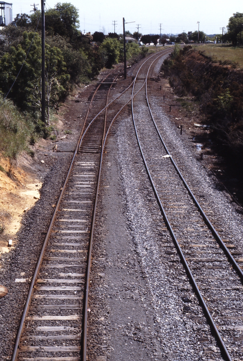
[[[17,47],[11,47],[0,60],[0,90],[8,92],[23,64],[10,96],[22,110],[40,109],[41,105],[41,39],[35,34],[29,54],[27,51],[33,39],[33,32],[23,32],[23,40]],[[49,107],[65,94],[69,74],[66,73],[64,57],[60,49],[45,47],[45,78],[47,96],[47,123]]]

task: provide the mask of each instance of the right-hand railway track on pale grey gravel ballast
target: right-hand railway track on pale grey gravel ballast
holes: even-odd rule
[[[144,76],[146,86],[132,99],[132,116],[144,166],[172,238],[163,243],[165,257],[171,269],[179,261],[184,265],[224,360],[242,360],[242,349],[235,341],[243,330],[243,258],[210,204],[204,201],[200,206],[195,199],[162,139],[149,105],[153,83],[148,79],[154,62],[147,67],[147,75],[143,68],[135,78],[133,92],[142,86]],[[188,314],[191,302],[185,300]],[[195,317],[195,321],[199,320]]]

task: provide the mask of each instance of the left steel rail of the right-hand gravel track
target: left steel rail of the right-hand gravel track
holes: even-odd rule
[[[151,65],[152,65],[152,64],[151,64]],[[150,68],[150,67],[149,67],[149,68]],[[134,79],[133,91],[134,91],[135,81],[136,81],[136,78]],[[133,95],[133,92],[132,92],[132,95]],[[146,97],[147,97],[147,96],[146,96]],[[191,283],[192,283],[192,287],[194,288],[194,291],[195,291],[195,293],[196,293],[196,295],[197,295],[197,297],[198,297],[199,303],[201,304],[201,306],[202,306],[202,308],[203,308],[203,310],[204,310],[205,316],[206,316],[207,319],[208,319],[209,325],[211,326],[211,329],[213,330],[213,333],[214,333],[215,338],[216,338],[216,340],[217,340],[217,342],[218,342],[218,345],[219,345],[219,348],[220,348],[220,350],[221,350],[221,353],[222,353],[222,355],[224,355],[226,361],[232,361],[232,359],[231,359],[231,357],[230,357],[230,355],[229,355],[229,352],[228,352],[228,350],[227,350],[227,348],[226,348],[226,346],[225,346],[225,344],[224,344],[224,341],[222,340],[221,335],[220,335],[220,333],[218,332],[218,329],[217,329],[217,327],[216,327],[216,325],[215,325],[215,323],[214,323],[214,321],[213,321],[213,318],[212,318],[212,316],[211,316],[211,314],[210,314],[210,312],[209,312],[209,310],[208,310],[208,307],[207,307],[207,305],[206,305],[206,303],[205,303],[205,301],[204,301],[204,299],[203,299],[203,296],[201,295],[201,292],[199,291],[198,285],[196,284],[196,281],[195,281],[195,279],[194,279],[194,277],[193,277],[193,275],[192,275],[191,269],[190,269],[190,267],[189,267],[189,265],[188,265],[188,263],[187,263],[187,261],[186,261],[186,258],[185,258],[184,254],[183,254],[183,252],[182,252],[182,249],[181,249],[181,247],[180,247],[180,245],[179,245],[179,243],[178,243],[178,241],[177,241],[177,238],[176,238],[176,236],[175,236],[175,234],[174,234],[174,231],[173,231],[173,229],[172,229],[172,226],[170,225],[169,219],[168,219],[167,216],[166,216],[164,207],[163,207],[163,205],[162,205],[162,203],[161,203],[161,200],[160,200],[160,197],[159,197],[159,195],[158,195],[158,193],[157,193],[155,184],[153,183],[151,174],[150,174],[149,169],[148,169],[148,166],[147,166],[146,159],[145,159],[144,154],[143,154],[143,151],[142,151],[141,144],[140,144],[140,142],[139,142],[138,132],[137,132],[137,130],[136,130],[136,124],[135,124],[135,118],[134,118],[134,112],[133,112],[133,97],[132,97],[132,101],[131,101],[131,110],[132,110],[133,125],[134,125],[135,134],[136,134],[136,139],[137,139],[137,142],[138,142],[139,151],[140,151],[140,153],[141,153],[141,156],[142,156],[142,159],[143,159],[143,163],[144,163],[146,172],[147,172],[147,174],[148,174],[149,181],[150,181],[151,186],[152,186],[152,188],[153,188],[153,192],[155,193],[155,197],[156,197],[157,203],[158,203],[158,205],[159,205],[159,208],[160,208],[160,210],[161,210],[162,216],[163,216],[163,218],[164,218],[164,222],[165,222],[165,224],[166,224],[166,227],[167,227],[167,229],[168,229],[168,231],[169,231],[169,233],[170,233],[170,235],[171,235],[171,237],[172,237],[172,239],[173,239],[173,242],[174,242],[174,244],[175,244],[175,247],[176,247],[176,249],[177,249],[177,252],[178,252],[178,254],[179,254],[180,258],[181,258],[181,261],[182,261],[182,263],[183,263],[183,265],[184,265],[184,267],[185,267],[185,269],[186,269],[186,273],[187,273],[187,275],[188,275],[188,278],[190,279],[190,281],[191,281]]]

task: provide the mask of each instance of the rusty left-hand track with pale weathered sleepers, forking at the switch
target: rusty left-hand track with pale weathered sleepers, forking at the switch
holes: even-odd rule
[[[169,51],[156,53],[144,63]],[[12,361],[86,360],[88,288],[102,156],[110,127],[131,100],[126,91],[133,84],[108,102],[115,83],[112,73],[92,96],[35,267]],[[123,95],[122,106],[119,102],[113,104]],[[92,107],[94,100],[96,107]]]

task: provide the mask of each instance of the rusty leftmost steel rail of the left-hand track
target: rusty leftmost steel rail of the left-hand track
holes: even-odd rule
[[[111,73],[112,73],[112,72],[111,72]],[[109,74],[110,74],[110,73],[109,73]],[[108,74],[108,75],[109,75],[109,74]],[[107,77],[108,77],[108,75],[107,75]],[[103,80],[105,80],[107,77],[105,77]],[[101,85],[101,84],[100,84],[100,85]],[[96,91],[98,90],[98,88],[99,88],[99,87],[97,87]],[[95,92],[95,93],[96,93],[96,92]],[[94,99],[94,96],[92,97],[91,101],[93,101],[93,99]],[[90,102],[90,104],[91,104],[91,102]],[[90,111],[90,106],[88,107],[87,114],[88,114],[89,111]],[[85,118],[85,119],[87,119],[87,115],[86,115],[86,118]],[[34,271],[34,274],[33,274],[33,276],[32,276],[32,281],[31,281],[30,288],[29,288],[29,292],[28,292],[28,295],[27,295],[27,298],[26,298],[26,301],[25,301],[25,307],[24,307],[24,309],[23,309],[21,321],[20,321],[19,328],[18,328],[18,333],[17,333],[17,336],[16,336],[16,342],[15,342],[15,345],[14,345],[14,350],[13,350],[13,355],[12,355],[12,361],[17,361],[18,352],[19,352],[19,342],[20,342],[20,339],[21,339],[21,335],[22,335],[22,333],[23,333],[23,329],[24,329],[24,325],[25,325],[25,318],[26,318],[27,313],[28,313],[28,311],[29,311],[30,302],[31,302],[31,299],[32,299],[33,291],[34,291],[34,286],[35,286],[36,278],[37,278],[37,275],[38,275],[38,273],[39,273],[40,267],[41,267],[41,265],[42,265],[42,260],[43,260],[44,254],[45,254],[45,248],[47,247],[47,243],[48,243],[48,240],[49,240],[51,231],[52,231],[52,226],[53,226],[53,223],[55,222],[55,219],[56,219],[56,216],[57,216],[57,211],[58,211],[59,205],[60,205],[60,203],[61,203],[61,199],[62,199],[62,196],[63,196],[64,191],[65,191],[65,188],[66,188],[66,184],[67,184],[68,179],[69,179],[69,175],[70,175],[71,170],[72,170],[72,168],[73,168],[74,158],[75,158],[75,156],[76,156],[77,153],[78,153],[78,145],[79,145],[79,142],[80,142],[80,140],[81,140],[81,138],[82,138],[83,128],[84,128],[84,127],[82,127],[81,134],[79,135],[79,139],[78,139],[78,142],[77,142],[77,145],[76,145],[74,154],[73,154],[73,158],[72,158],[71,163],[70,163],[70,166],[69,166],[68,173],[67,173],[67,175],[66,175],[64,184],[63,184],[63,186],[62,186],[61,193],[60,193],[60,195],[59,195],[59,198],[58,198],[58,201],[57,201],[55,210],[54,210],[54,212],[53,212],[53,215],[52,215],[52,218],[51,218],[51,222],[49,223],[49,227],[48,227],[48,230],[47,230],[47,234],[46,234],[46,236],[45,236],[45,239],[44,239],[44,242],[43,242],[43,245],[42,245],[42,249],[41,249],[41,251],[40,251],[39,258],[38,258],[38,261],[37,261],[36,266],[35,266],[35,271]]]

